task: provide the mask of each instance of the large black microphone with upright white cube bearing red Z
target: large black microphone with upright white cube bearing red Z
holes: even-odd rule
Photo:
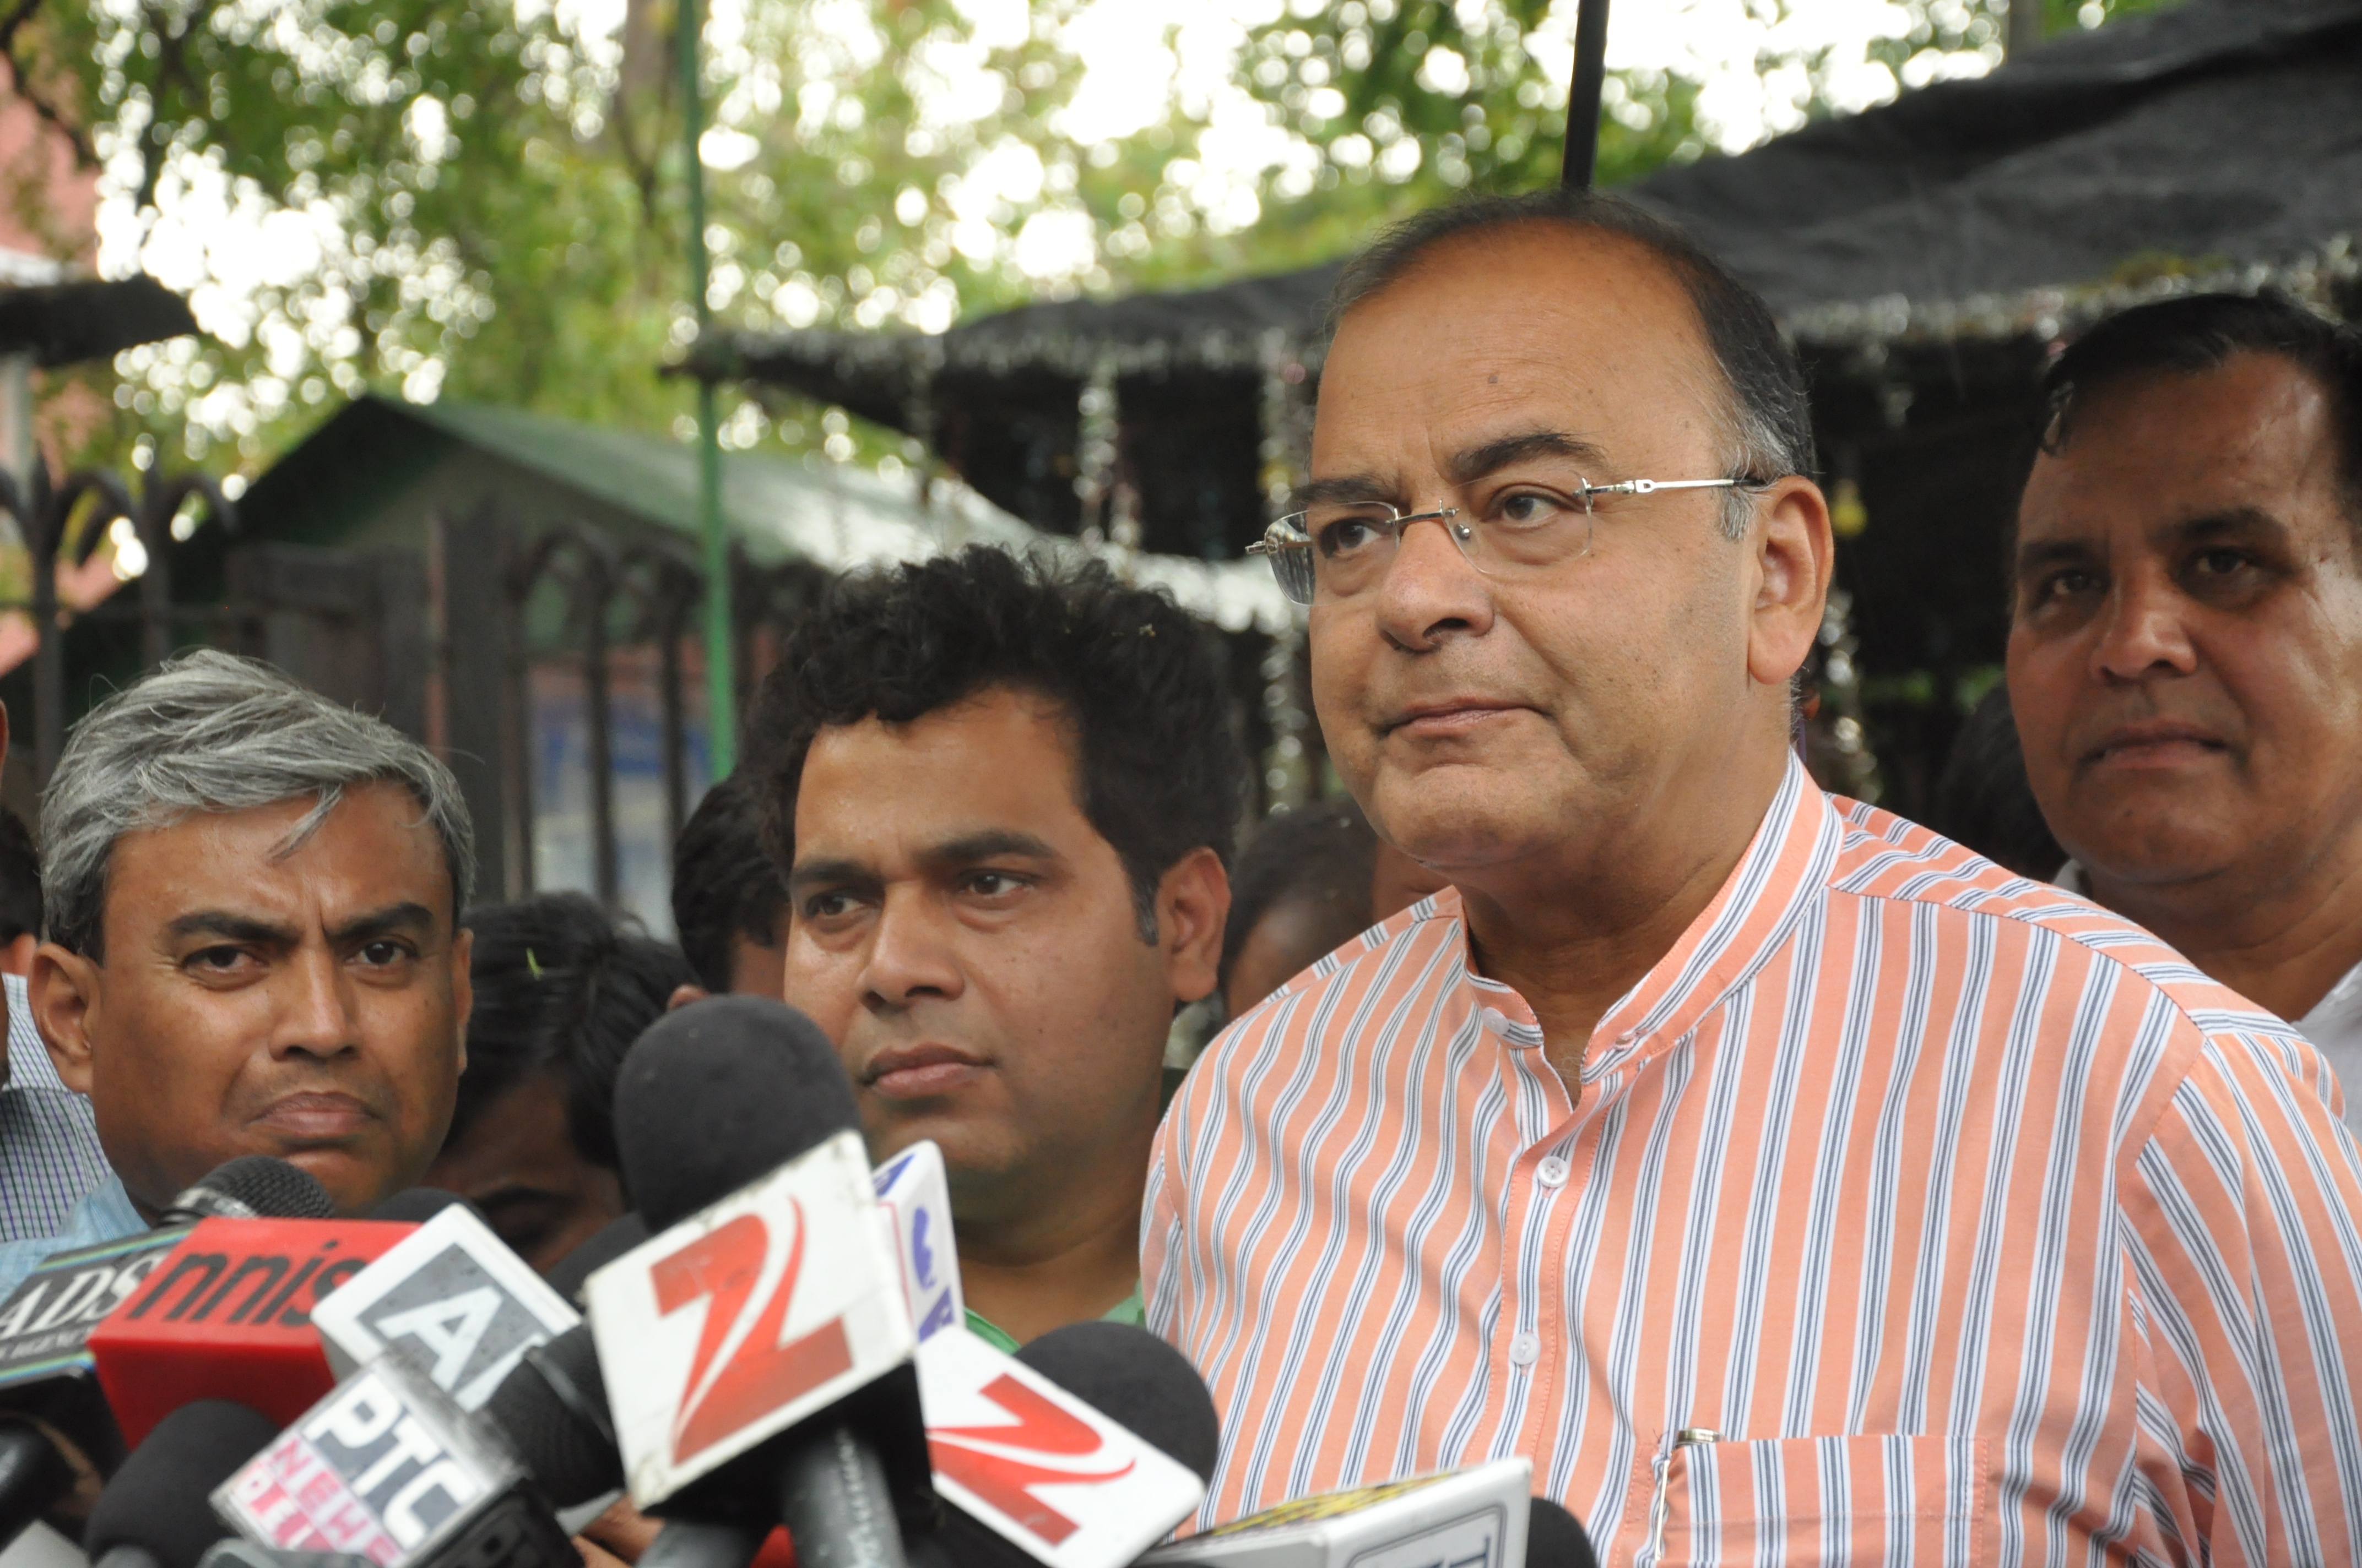
[[[616,1148],[657,1235],[583,1296],[633,1502],[784,1523],[801,1568],[902,1568],[898,1514],[933,1511],[916,1337],[834,1046],[761,997],[666,1013],[616,1077]]]

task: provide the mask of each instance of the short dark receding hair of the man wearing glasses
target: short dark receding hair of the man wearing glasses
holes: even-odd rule
[[[1469,196],[1443,208],[1415,213],[1379,234],[1361,255],[1346,262],[1330,295],[1327,331],[1335,335],[1346,312],[1410,274],[1436,246],[1498,229],[1559,224],[1620,234],[1649,250],[1689,295],[1698,314],[1705,347],[1722,368],[1729,392],[1731,477],[1772,482],[1786,475],[1812,475],[1812,404],[1805,399],[1805,371],[1795,349],[1781,338],[1779,319],[1764,298],[1705,253],[1675,224],[1620,196],[1549,187],[1516,196]],[[1746,491],[1724,491],[1724,534],[1746,529]]]

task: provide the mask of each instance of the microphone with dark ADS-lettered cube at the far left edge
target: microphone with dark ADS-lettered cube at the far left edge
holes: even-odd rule
[[[333,1207],[312,1176],[248,1155],[208,1171],[170,1211],[319,1214],[321,1204]],[[78,1481],[97,1485],[123,1464],[123,1431],[102,1393],[90,1334],[187,1235],[180,1223],[52,1254],[0,1301],[0,1547]]]

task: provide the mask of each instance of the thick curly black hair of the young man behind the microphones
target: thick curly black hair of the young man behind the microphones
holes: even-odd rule
[[[900,725],[990,687],[1065,711],[1082,815],[1122,857],[1153,942],[1164,871],[1198,848],[1231,860],[1247,763],[1214,631],[1098,562],[971,545],[831,583],[789,633],[749,723],[763,845],[791,862],[803,758],[822,727]]]

